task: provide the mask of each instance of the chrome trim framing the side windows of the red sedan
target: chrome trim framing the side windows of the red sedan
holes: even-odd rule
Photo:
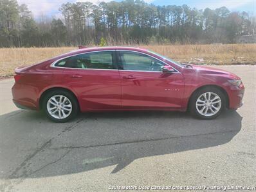
[[[165,65],[169,65],[168,63],[165,63],[165,61],[162,61],[162,60],[160,60],[160,59],[158,59],[158,58],[156,58],[156,57],[154,57],[154,56],[151,56],[150,54],[147,54],[147,53],[145,53],[145,52],[131,51],[131,50],[125,50],[125,49],[111,49],[111,50],[99,50],[99,51],[80,52],[80,53],[78,53],[78,54],[69,55],[69,56],[66,56],[66,57],[64,57],[64,58],[60,58],[59,60],[53,61],[53,63],[51,63],[51,65],[50,65],[50,67],[53,67],[53,68],[71,68],[71,67],[56,67],[55,64],[56,64],[57,62],[59,62],[60,60],[64,60],[64,59],[66,59],[66,58],[70,58],[70,57],[72,57],[72,56],[77,56],[77,55],[80,55],[80,54],[87,54],[87,53],[91,53],[91,52],[106,52],[106,51],[108,51],[108,52],[111,52],[111,51],[138,52],[138,53],[140,53],[140,54],[145,54],[145,55],[147,55],[147,56],[149,56],[149,57],[151,57],[151,58],[154,58],[154,59],[156,59],[156,60],[158,60],[158,61],[161,61],[161,62],[164,63]],[[175,64],[174,64],[174,65],[175,65]],[[171,65],[169,65],[169,66],[172,67]],[[175,68],[175,67],[172,67],[172,68],[174,68],[174,70],[176,71],[176,72],[172,72],[172,73],[181,73],[181,72],[179,72],[179,70],[178,70],[177,68]],[[77,69],[77,70],[81,70],[81,69],[82,69],[82,70],[121,70],[121,71],[160,72],[160,73],[162,73],[161,71],[154,71],[154,70],[123,70],[123,69],[118,69],[118,68],[116,68],[116,69],[114,69],[114,68],[111,68],[111,69],[105,69],[105,68],[71,68],[71,69]]]

